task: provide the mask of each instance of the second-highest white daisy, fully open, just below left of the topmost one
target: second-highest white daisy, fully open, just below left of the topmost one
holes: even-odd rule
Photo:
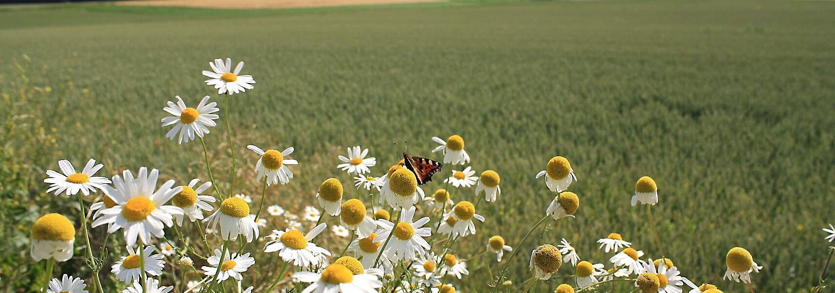
[[[165,134],[166,138],[174,139],[179,132],[178,144],[183,144],[184,139],[188,143],[189,140],[195,139],[195,134],[202,138],[203,134],[209,134],[209,126],[217,125],[214,120],[220,118],[220,116],[212,113],[218,112],[220,109],[215,107],[217,106],[215,102],[206,104],[206,102],[209,102],[209,96],[203,97],[197,108],[185,107],[183,99],[180,99],[180,96],[176,96],[176,98],[176,104],[168,101],[168,107],[163,108],[165,112],[172,116],[162,119],[162,127],[174,125],[174,128]]]

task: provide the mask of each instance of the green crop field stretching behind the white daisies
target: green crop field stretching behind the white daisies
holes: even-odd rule
[[[369,217],[372,202],[392,210],[377,204],[377,189],[355,187],[356,174],[338,169],[338,157],[356,145],[369,149],[367,157],[377,164],[365,176],[378,178],[404,151],[443,163],[432,138],[453,134],[463,138],[471,161],[444,164],[420,187],[429,197],[448,189],[454,203],[473,203],[485,220],[475,220],[474,235],[440,234],[441,212],[423,199],[414,220],[431,218],[426,226],[434,236],[426,240],[438,258],[467,260],[468,275],[442,278],[458,292],[554,292],[563,283],[577,291],[639,292],[638,274],[596,288],[578,285],[567,257],[549,280],[531,280],[531,251],[561,240],[580,260],[612,268],[610,257],[620,250],[607,253],[598,243],[610,233],[643,251],[641,260],[660,259],[663,247],[681,276],[696,285],[725,292],[815,291],[832,245],[822,228],[835,222],[833,15],[835,2],[827,1],[289,10],[0,6],[0,291],[37,291],[47,278],[68,274],[95,292],[85,263],[89,253],[101,260],[105,291],[131,285],[110,272],[129,255],[125,230],[91,228],[92,212],[88,251],[78,195],[46,192],[46,172],[60,172],[60,159],[78,170],[96,159],[104,168],[95,175],[108,179],[124,170],[135,176],[140,167],[159,169],[155,187],[169,179],[174,187],[195,178],[209,181],[208,161],[217,190],[200,194],[220,200],[245,194],[251,214],[266,190],[260,237],[246,243],[241,235],[226,247],[255,258],[242,273],[243,289],[267,292],[277,280],[273,290],[301,292],[309,284],[294,282],[290,273],[325,266],[285,266],[278,252],[264,252],[264,236],[286,230],[291,220],[304,233],[326,223],[310,240],[331,252],[326,261],[354,256],[341,253],[354,239],[350,231],[341,236],[332,230],[343,225],[340,216],[306,215],[307,207],[321,212],[316,194],[323,181],[341,181],[341,202],[362,200]],[[255,78],[254,88],[225,95],[206,85],[210,78],[201,71],[212,71],[215,58],[231,58],[232,68],[244,61],[240,74]],[[217,126],[204,136],[206,152],[198,138],[183,144],[166,138],[173,127],[160,123],[171,116],[163,110],[167,102],[180,96],[195,107],[206,95],[220,109]],[[285,159],[298,161],[286,164],[295,176],[263,189],[256,177],[261,155],[247,149],[250,144],[294,148]],[[544,218],[559,193],[536,177],[556,156],[569,160],[577,180],[565,191],[579,197],[574,217],[559,220]],[[485,201],[476,184],[443,183],[467,166],[473,176],[488,169],[499,174],[497,200]],[[649,205],[630,205],[642,176],[657,183],[652,220]],[[84,211],[102,196],[82,195]],[[205,217],[220,201],[212,205]],[[284,213],[271,215],[271,205]],[[49,261],[30,254],[33,223],[49,213],[65,215],[75,226],[73,256],[54,262],[51,275]],[[399,214],[392,211],[391,218]],[[225,243],[220,234],[204,242],[200,230],[209,223],[199,223],[200,229],[186,216],[178,230],[164,227],[165,238],[180,249],[165,255],[158,278],[174,285],[172,292],[205,280],[201,267],[208,264],[200,256]],[[487,250],[493,235],[513,248],[501,262]],[[168,242],[149,239],[157,245],[154,254]],[[751,289],[723,280],[726,255],[736,246],[762,265],[751,272]],[[194,269],[179,261],[183,255]],[[409,291],[395,288],[402,286],[396,280],[416,284],[411,276],[421,263],[397,263],[380,278],[380,290]],[[496,281],[503,269],[504,279]],[[211,290],[240,293],[233,279]],[[832,285],[820,292],[832,292]]]

